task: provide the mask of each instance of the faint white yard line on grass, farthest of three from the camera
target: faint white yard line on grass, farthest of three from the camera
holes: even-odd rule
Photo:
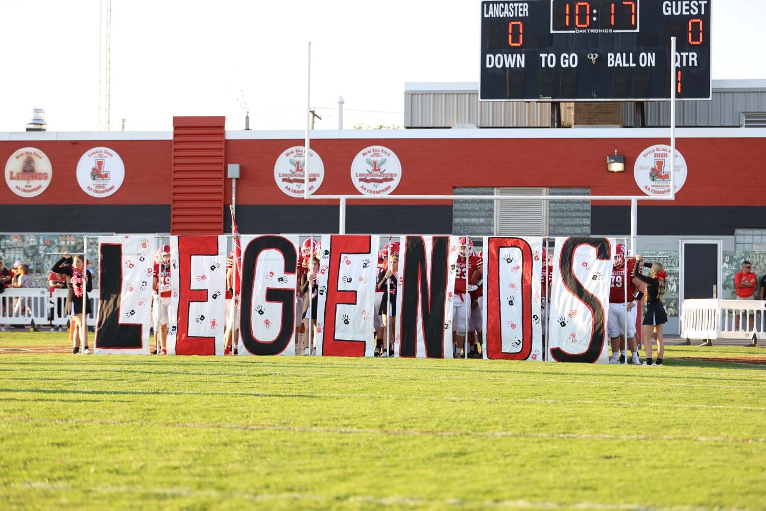
[[[76,379],[76,378],[74,378]],[[81,382],[82,380],[77,380]],[[8,389],[0,388],[0,392],[13,393],[14,391],[25,392],[49,392],[49,391],[67,391],[72,394],[138,394],[138,395],[224,395],[224,396],[249,396],[253,398],[376,398],[385,399],[388,396],[355,392],[354,394],[343,392],[242,392],[242,391],[167,391],[167,390],[129,390],[122,391],[104,391],[90,388],[73,388],[73,389],[52,389],[52,388],[18,388]],[[431,395],[410,395],[409,398],[413,400],[421,398],[433,398]],[[476,396],[461,396],[451,395],[444,396],[447,401],[486,401],[486,402],[513,402],[513,403],[540,403],[545,405],[620,405],[620,406],[653,406],[664,408],[700,408],[703,410],[747,410],[747,411],[766,411],[766,407],[762,406],[735,406],[735,405],[689,405],[686,403],[653,403],[651,401],[594,401],[588,399],[577,399],[573,401],[565,401],[562,399],[536,399],[536,398],[478,398]]]

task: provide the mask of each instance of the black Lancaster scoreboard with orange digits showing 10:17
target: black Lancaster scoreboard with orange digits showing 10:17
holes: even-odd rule
[[[481,3],[479,99],[709,100],[712,0]]]

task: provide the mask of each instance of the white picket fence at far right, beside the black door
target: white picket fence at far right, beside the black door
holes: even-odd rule
[[[766,301],[683,300],[682,339],[766,339]]]

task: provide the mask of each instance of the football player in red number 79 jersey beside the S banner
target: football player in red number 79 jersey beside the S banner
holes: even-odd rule
[[[612,267],[612,282],[609,288],[609,316],[607,317],[607,332],[611,339],[612,355],[610,364],[625,362],[625,314],[627,313],[627,345],[632,353],[630,362],[640,365],[636,343],[636,313],[638,302],[643,293],[637,290],[633,283],[633,268],[636,266],[634,257],[625,257],[625,245],[617,244],[614,250]],[[627,271],[626,271],[627,267]],[[627,294],[626,294],[627,287]],[[626,302],[627,296],[627,302]]]

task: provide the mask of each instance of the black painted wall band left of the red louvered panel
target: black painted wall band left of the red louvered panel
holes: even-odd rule
[[[170,232],[170,205],[0,205],[8,232]]]

